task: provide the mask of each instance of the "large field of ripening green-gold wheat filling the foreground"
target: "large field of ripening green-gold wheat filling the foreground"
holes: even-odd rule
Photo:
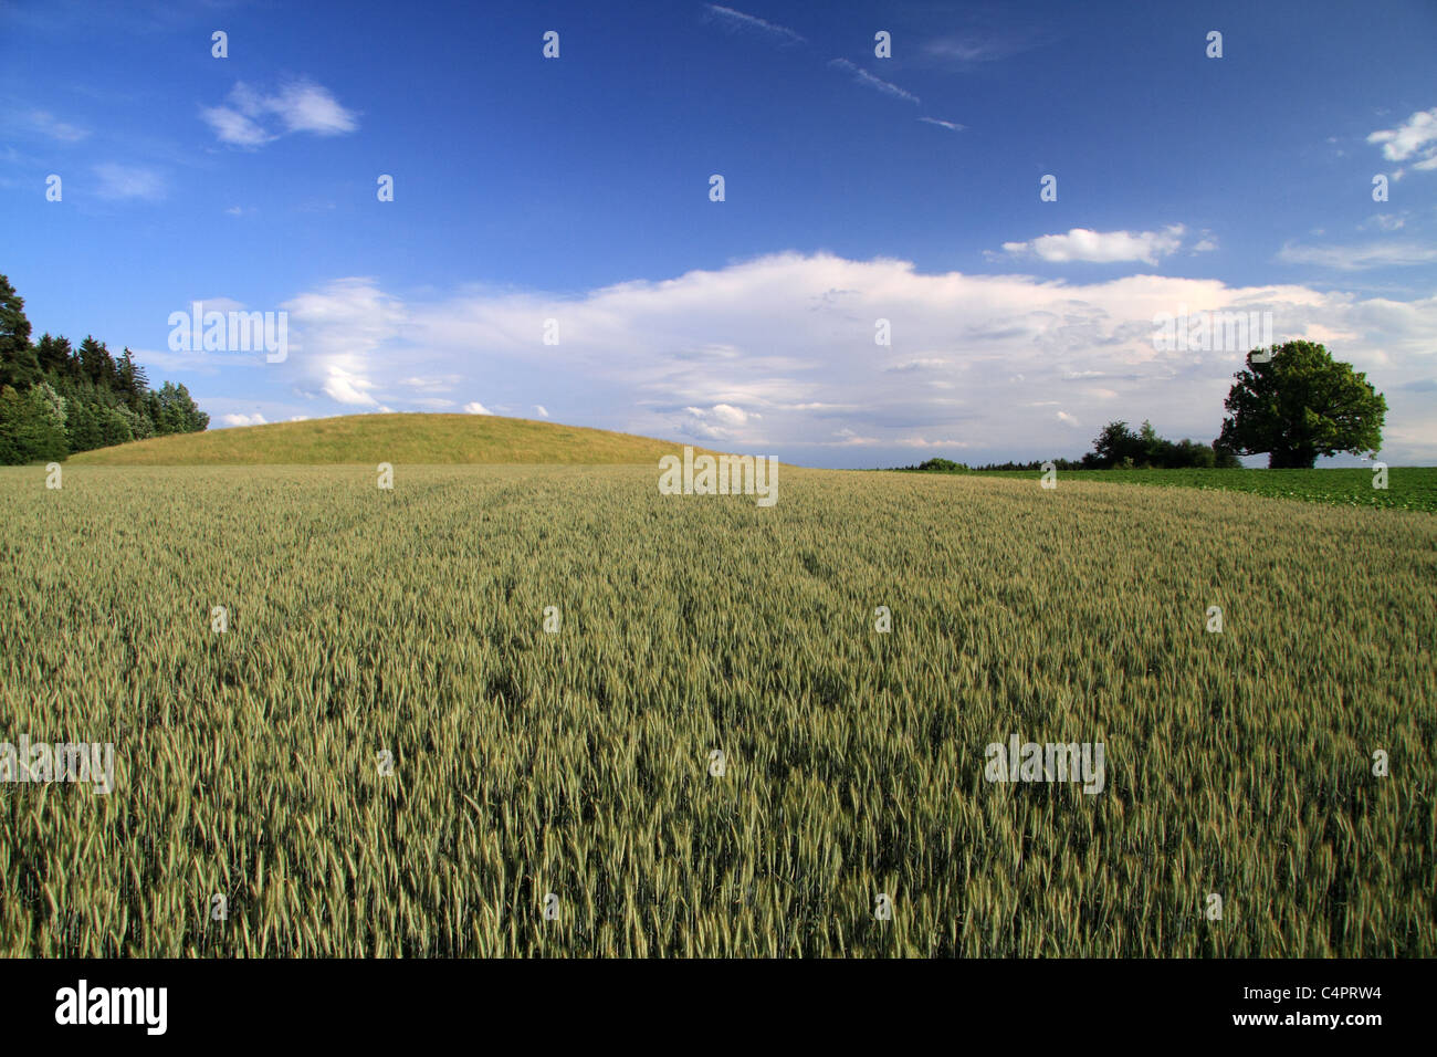
[[[1437,955],[1437,519],[655,482],[0,472],[0,953]]]

